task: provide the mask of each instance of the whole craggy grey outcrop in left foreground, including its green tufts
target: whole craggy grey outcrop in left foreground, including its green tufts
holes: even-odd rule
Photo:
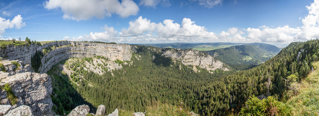
[[[0,63],[4,65],[0,70],[5,71],[0,71],[0,107],[6,105],[9,108],[3,115],[30,114],[29,111],[20,112],[21,108],[30,109],[31,115],[48,115],[52,108],[51,78],[47,74],[32,73],[31,67],[21,61]]]

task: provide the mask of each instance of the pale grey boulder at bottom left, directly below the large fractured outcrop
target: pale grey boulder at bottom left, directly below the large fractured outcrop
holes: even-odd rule
[[[32,113],[31,107],[26,105],[21,105],[17,108],[14,108],[13,110],[10,110],[4,116],[33,116],[33,113]]]

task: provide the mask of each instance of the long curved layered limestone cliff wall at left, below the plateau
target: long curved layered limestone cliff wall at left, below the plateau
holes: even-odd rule
[[[54,49],[52,50],[52,48]],[[43,49],[51,49],[50,52],[41,58],[39,71],[40,73],[46,73],[56,63],[73,57],[93,57],[100,55],[110,60],[130,60],[132,48],[134,47],[127,44],[56,41],[43,44],[42,46],[34,44],[29,46],[8,45],[6,48],[0,49],[0,57],[4,58],[4,60],[19,60],[26,64],[31,64],[31,58],[36,51],[42,52]]]

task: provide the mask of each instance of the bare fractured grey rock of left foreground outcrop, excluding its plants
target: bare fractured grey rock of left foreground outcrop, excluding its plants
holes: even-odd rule
[[[52,108],[50,97],[52,92],[51,78],[47,74],[40,75],[39,73],[25,72],[30,71],[30,67],[23,66],[23,62],[20,62],[20,64],[20,70],[23,70],[21,73],[17,73],[17,70],[14,72],[10,70],[8,72],[0,71],[0,86],[4,86],[6,83],[10,85],[12,92],[17,97],[17,103],[12,105],[14,108],[27,105],[31,107],[35,116],[48,115]],[[6,64],[6,66],[11,65]],[[1,90],[0,96],[1,102],[7,100],[4,101],[6,102],[4,105],[11,105],[4,90]]]

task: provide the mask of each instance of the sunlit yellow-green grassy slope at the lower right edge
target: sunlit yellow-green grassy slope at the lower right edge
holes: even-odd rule
[[[319,62],[313,63],[314,71],[301,81],[296,96],[290,96],[285,102],[292,108],[292,115],[319,115]]]

